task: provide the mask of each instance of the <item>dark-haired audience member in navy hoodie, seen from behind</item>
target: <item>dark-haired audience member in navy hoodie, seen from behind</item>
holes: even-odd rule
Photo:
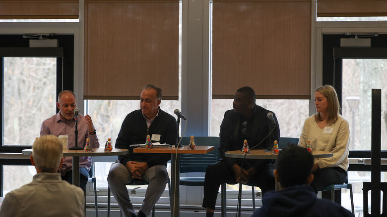
[[[268,191],[262,207],[252,217],[354,217],[337,203],[318,199],[309,184],[316,170],[311,153],[305,148],[286,147],[278,154],[274,170],[279,191]]]

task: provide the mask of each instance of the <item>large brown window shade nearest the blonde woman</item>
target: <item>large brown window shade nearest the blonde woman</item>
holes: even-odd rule
[[[311,1],[214,0],[212,97],[311,98]]]

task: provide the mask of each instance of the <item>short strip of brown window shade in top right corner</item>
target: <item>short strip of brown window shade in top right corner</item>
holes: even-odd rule
[[[317,16],[387,16],[387,0],[318,0]]]

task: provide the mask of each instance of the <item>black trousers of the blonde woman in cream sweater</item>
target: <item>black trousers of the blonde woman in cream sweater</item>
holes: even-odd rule
[[[323,168],[313,173],[311,187],[317,193],[329,184],[342,184],[347,179],[347,173],[340,167]]]

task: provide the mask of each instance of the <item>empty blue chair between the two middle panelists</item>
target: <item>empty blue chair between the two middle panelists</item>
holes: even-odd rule
[[[195,145],[215,146],[215,150],[208,154],[180,154],[180,173],[205,173],[207,166],[221,159],[219,154],[219,137],[196,136]],[[181,144],[188,145],[190,137],[183,137]],[[180,177],[180,185],[204,186],[204,177]],[[221,185],[221,214],[226,216],[226,183]]]

